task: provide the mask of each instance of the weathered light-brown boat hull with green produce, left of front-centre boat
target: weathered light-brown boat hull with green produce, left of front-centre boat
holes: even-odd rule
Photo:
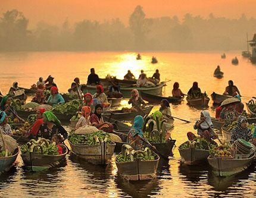
[[[107,144],[102,142],[96,146],[88,146],[85,144],[75,145],[68,141],[71,147],[71,152],[79,158],[96,165],[107,165],[111,163],[111,158],[114,153],[115,143]]]

